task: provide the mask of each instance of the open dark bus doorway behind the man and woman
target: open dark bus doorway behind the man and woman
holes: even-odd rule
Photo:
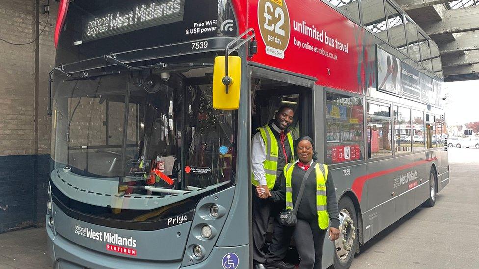
[[[274,119],[278,108],[286,105],[294,111],[293,123],[289,127],[294,145],[296,145],[296,140],[303,135],[314,138],[312,121],[314,80],[256,67],[250,67],[249,71],[251,74],[251,136],[257,132],[257,128]],[[295,152],[294,155],[296,159]],[[278,208],[276,213],[279,213],[280,209]],[[270,242],[274,215],[276,214],[273,213],[269,219],[266,242]],[[291,257],[289,260],[295,262],[294,259]]]

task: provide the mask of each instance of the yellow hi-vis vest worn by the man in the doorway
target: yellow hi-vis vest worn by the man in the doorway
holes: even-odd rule
[[[260,127],[257,130],[260,131],[261,137],[265,142],[266,160],[263,162],[263,167],[265,169],[266,184],[271,190],[276,182],[276,171],[278,169],[278,142],[276,141],[269,125]],[[291,132],[288,132],[286,137],[288,138],[288,143],[291,147],[291,160],[294,161],[293,137],[291,136]],[[288,160],[285,160],[285,162],[288,163]],[[251,183],[255,186],[259,185],[253,174],[251,174]]]

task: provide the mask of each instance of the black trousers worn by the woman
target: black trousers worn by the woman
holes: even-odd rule
[[[293,228],[293,238],[301,259],[299,269],[321,269],[326,231],[319,229],[318,220],[298,219],[298,224]]]

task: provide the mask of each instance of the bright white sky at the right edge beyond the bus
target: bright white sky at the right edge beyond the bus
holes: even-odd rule
[[[479,80],[444,83],[441,97],[446,97],[448,126],[479,122]]]

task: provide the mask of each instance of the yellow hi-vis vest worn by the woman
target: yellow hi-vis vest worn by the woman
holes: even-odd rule
[[[289,163],[284,168],[286,178],[286,209],[293,209],[293,196],[291,194],[291,175],[295,163]],[[329,214],[327,211],[326,180],[328,179],[328,166],[316,164],[316,211],[318,212],[318,226],[326,230],[329,226]],[[310,168],[311,169],[311,168]]]

